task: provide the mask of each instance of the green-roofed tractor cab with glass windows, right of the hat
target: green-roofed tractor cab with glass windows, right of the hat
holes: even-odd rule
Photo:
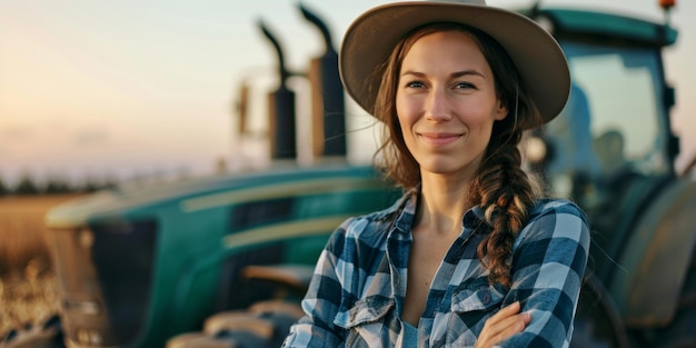
[[[571,76],[561,113],[527,140],[527,159],[553,196],[587,211],[601,278],[616,267],[632,220],[647,199],[674,181],[678,139],[669,110],[674,88],[665,81],[662,50],[673,28],[605,12],[539,9],[526,13],[560,43]],[[617,221],[620,221],[617,223]],[[610,237],[606,237],[610,236]]]

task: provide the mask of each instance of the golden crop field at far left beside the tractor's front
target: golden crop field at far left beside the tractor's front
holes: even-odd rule
[[[0,197],[0,340],[58,312],[44,213],[76,195]]]

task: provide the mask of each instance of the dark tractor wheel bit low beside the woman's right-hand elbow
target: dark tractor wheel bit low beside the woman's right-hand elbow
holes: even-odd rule
[[[610,296],[590,275],[586,277],[575,315],[570,348],[628,348],[626,330]]]

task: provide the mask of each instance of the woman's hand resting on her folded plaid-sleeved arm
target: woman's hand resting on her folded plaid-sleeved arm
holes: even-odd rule
[[[521,332],[531,321],[531,316],[527,312],[520,314],[519,309],[519,301],[513,302],[488,318],[474,348],[490,348],[510,336]]]

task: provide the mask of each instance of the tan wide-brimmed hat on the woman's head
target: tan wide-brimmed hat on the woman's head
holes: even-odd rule
[[[474,27],[498,41],[515,63],[544,122],[566,105],[570,72],[556,39],[529,18],[486,6],[485,0],[395,2],[359,16],[348,27],[339,51],[340,78],[348,95],[374,112],[382,78],[376,69],[408,32],[432,22]]]

